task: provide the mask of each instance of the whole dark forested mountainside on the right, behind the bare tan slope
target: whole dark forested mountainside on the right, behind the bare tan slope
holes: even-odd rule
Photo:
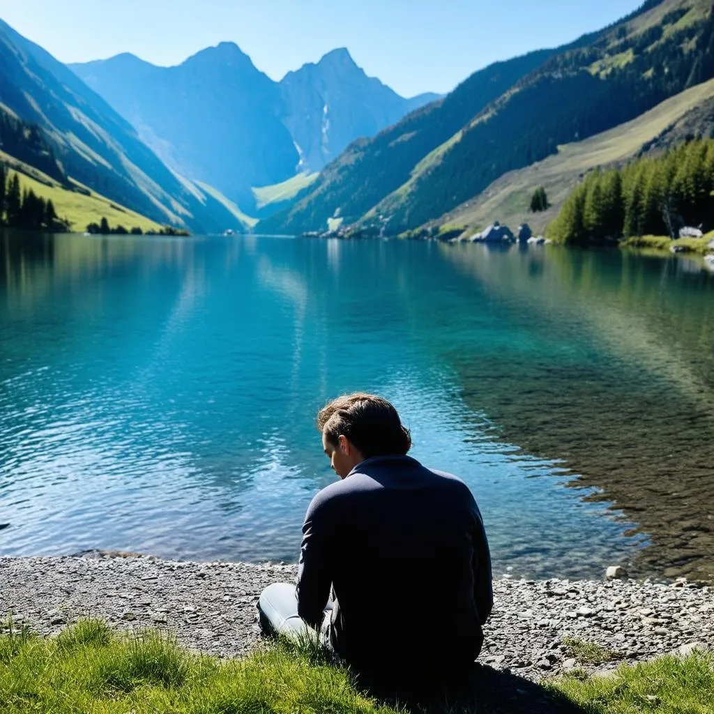
[[[415,126],[417,113],[353,144],[296,206],[258,230],[319,229],[333,216],[346,223],[386,223],[390,233],[421,226],[478,196],[507,171],[555,154],[560,144],[630,121],[710,79],[713,29],[711,0],[648,0],[623,21],[536,56],[531,66],[530,56],[521,58],[520,76],[503,63],[513,81],[473,103],[470,116],[461,113],[463,121],[448,136],[431,121]],[[486,75],[477,73],[467,83],[479,76]],[[421,114],[443,114],[453,128],[456,114],[445,108],[456,94],[464,94],[463,85],[438,103],[441,109]],[[395,171],[394,147],[400,144],[405,146]]]

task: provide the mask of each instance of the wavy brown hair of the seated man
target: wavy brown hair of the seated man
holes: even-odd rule
[[[321,408],[317,428],[336,446],[346,436],[364,458],[403,456],[411,448],[411,433],[390,402],[364,392],[346,394]]]

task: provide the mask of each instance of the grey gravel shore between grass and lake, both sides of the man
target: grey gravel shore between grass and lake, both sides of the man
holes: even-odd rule
[[[3,557],[0,611],[43,635],[90,616],[114,628],[166,630],[191,650],[242,656],[261,642],[258,595],[270,583],[293,582],[296,573],[296,565],[151,556]],[[534,681],[573,669],[604,673],[694,645],[714,650],[714,590],[706,585],[502,579],[494,580],[493,590],[478,661]],[[580,660],[565,644],[568,638],[618,657]]]

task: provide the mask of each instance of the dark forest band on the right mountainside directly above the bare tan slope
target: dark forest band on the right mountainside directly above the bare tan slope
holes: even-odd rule
[[[670,29],[678,16],[634,36],[626,27],[594,44],[550,59],[487,109],[406,200],[388,199],[399,232],[441,216],[481,193],[498,176],[554,154],[558,145],[593,136],[714,76],[714,16]],[[620,37],[621,36],[621,37]],[[610,43],[609,45],[607,43]],[[608,47],[605,52],[605,47]],[[612,59],[598,73],[594,65]],[[392,204],[392,205],[391,205]]]

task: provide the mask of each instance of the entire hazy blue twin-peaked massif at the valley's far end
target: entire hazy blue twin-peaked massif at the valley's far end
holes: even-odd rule
[[[130,54],[71,69],[129,121],[169,166],[256,210],[252,187],[321,171],[431,101],[404,99],[366,76],[346,49],[274,82],[233,43],[158,67]]]

